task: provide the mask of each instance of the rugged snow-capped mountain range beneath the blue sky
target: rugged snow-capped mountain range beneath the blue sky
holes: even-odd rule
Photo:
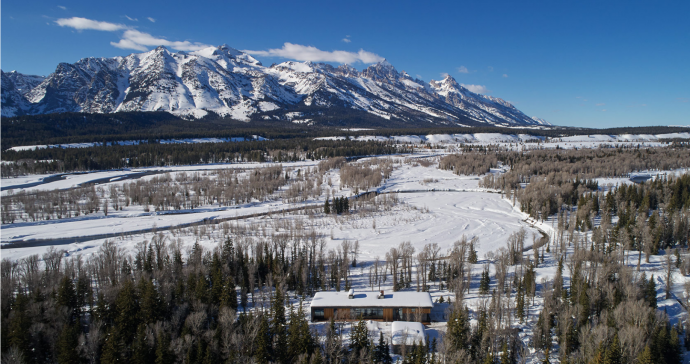
[[[550,125],[502,99],[470,92],[451,76],[425,83],[386,61],[361,72],[312,62],[265,67],[227,45],[84,58],[60,63],[47,77],[2,72],[3,117],[168,111],[185,118],[215,113],[310,123],[343,108],[411,125]]]

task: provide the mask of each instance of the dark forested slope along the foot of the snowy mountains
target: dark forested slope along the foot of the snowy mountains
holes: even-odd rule
[[[114,142],[122,140],[156,140],[175,138],[228,138],[260,135],[268,139],[360,135],[427,135],[427,134],[514,134],[514,128],[452,127],[423,122],[385,120],[349,108],[315,110],[296,108],[305,118],[317,120],[302,126],[287,120],[267,121],[262,116],[281,116],[285,110],[256,115],[249,123],[220,118],[213,113],[200,120],[185,120],[167,112],[118,112],[113,114],[58,113],[2,118],[3,149],[18,145]],[[468,120],[471,123],[471,121]],[[346,127],[375,128],[348,131]],[[689,128],[650,126],[610,129],[550,127],[521,129],[519,133],[548,138],[572,135],[666,134],[690,131]]]

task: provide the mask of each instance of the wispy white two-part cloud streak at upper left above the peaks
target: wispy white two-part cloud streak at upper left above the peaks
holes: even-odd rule
[[[125,15],[127,19],[132,20]],[[136,19],[135,19],[136,20]],[[150,19],[149,19],[150,20]],[[203,48],[208,48],[210,45],[190,42],[190,41],[171,41],[162,37],[156,37],[149,33],[140,32],[132,27],[124,24],[108,23],[104,21],[91,20],[86,18],[64,18],[55,21],[61,27],[70,27],[77,30],[100,30],[106,32],[122,31],[122,36],[117,42],[110,42],[113,47],[121,49],[134,49],[145,52],[149,50],[148,47],[166,46],[179,51],[196,51]]]

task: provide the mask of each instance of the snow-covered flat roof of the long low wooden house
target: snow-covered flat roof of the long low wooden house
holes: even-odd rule
[[[405,307],[431,308],[429,292],[389,292],[382,299],[377,298],[379,292],[357,292],[353,299],[347,298],[347,292],[317,292],[311,301],[312,308],[347,308],[347,307]]]

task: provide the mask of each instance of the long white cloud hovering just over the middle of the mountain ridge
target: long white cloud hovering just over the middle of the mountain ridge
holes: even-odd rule
[[[243,52],[265,57],[280,57],[297,61],[311,62],[337,62],[337,63],[376,63],[385,58],[371,52],[360,49],[359,52],[347,51],[322,51],[316,47],[292,44],[286,42],[282,48],[269,49],[267,51],[244,50]]]

